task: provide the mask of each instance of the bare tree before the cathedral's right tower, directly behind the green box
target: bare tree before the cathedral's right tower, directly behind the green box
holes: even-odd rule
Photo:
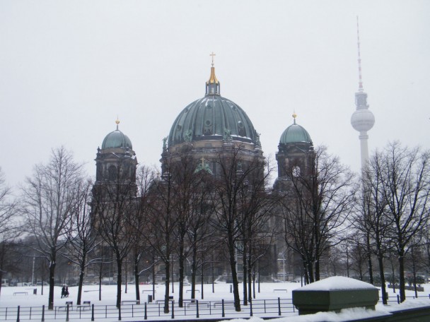
[[[307,282],[320,280],[320,258],[345,229],[354,205],[354,174],[324,146],[315,149],[304,169],[286,165],[289,191],[282,201],[285,241],[303,260]]]

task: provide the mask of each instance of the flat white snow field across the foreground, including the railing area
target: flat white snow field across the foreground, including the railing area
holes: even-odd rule
[[[347,321],[351,320],[351,318],[358,319],[390,314],[390,311],[396,311],[397,309],[430,306],[430,285],[424,285],[424,292],[419,292],[418,299],[414,298],[414,292],[406,291],[407,301],[402,304],[397,304],[398,290],[396,290],[396,293],[393,290],[388,290],[389,305],[383,306],[383,304],[378,304],[376,311],[345,309],[340,314],[320,312],[313,315],[298,316],[298,311],[292,305],[291,291],[301,287],[301,283],[278,282],[262,283],[260,285],[260,293],[257,292],[257,285],[255,285],[257,294],[256,298],[252,301],[252,310],[248,304],[247,306],[242,306],[241,312],[236,312],[232,306],[233,294],[230,293],[230,286],[230,284],[225,283],[215,284],[215,292],[213,293],[211,284],[204,285],[204,299],[202,299],[199,285],[196,293],[196,299],[199,300],[197,312],[197,304],[190,302],[190,285],[185,286],[184,299],[186,301],[182,308],[178,307],[178,283],[174,285],[175,292],[172,292],[170,285],[170,295],[173,296],[175,303],[174,310],[172,310],[172,303],[170,303],[170,312],[168,314],[163,313],[164,285],[156,285],[155,299],[153,299],[151,304],[145,304],[145,302],[148,301],[148,295],[152,294],[152,285],[139,285],[141,304],[132,302],[136,299],[134,285],[127,285],[127,293],[125,292],[125,285],[123,285],[122,301],[124,303],[121,306],[121,311],[115,307],[116,285],[103,285],[100,301],[98,299],[98,285],[84,285],[81,302],[91,302],[91,304],[82,306],[76,305],[78,287],[69,287],[69,297],[64,299],[61,298],[61,287],[54,287],[54,310],[51,311],[47,310],[47,286],[44,287],[43,295],[41,294],[41,286],[1,287],[0,321],[17,321],[18,306],[21,321],[41,321],[42,314],[44,314],[45,321],[54,319],[57,321],[66,321],[67,318],[69,318],[69,321],[91,321],[92,314],[94,314],[94,321],[104,322],[119,321],[120,314],[122,321],[144,321],[145,306],[148,321],[172,320],[173,318],[175,320],[187,321],[198,318],[221,319],[223,318],[222,299],[224,300],[224,318],[237,318],[235,321],[245,321],[243,318],[247,318],[246,321],[252,322],[262,321],[262,317],[277,318],[277,322]],[[36,295],[33,294],[34,289],[37,289]],[[243,297],[241,284],[240,297]],[[72,302],[69,308],[67,308],[66,302]],[[93,304],[94,313],[92,312]],[[42,312],[43,305],[45,305],[44,312]],[[281,316],[279,316],[279,310],[281,311]]]

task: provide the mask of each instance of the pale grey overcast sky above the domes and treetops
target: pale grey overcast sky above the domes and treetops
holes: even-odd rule
[[[95,174],[120,130],[158,165],[175,117],[204,96],[247,112],[266,156],[297,123],[359,171],[358,89],[375,115],[370,153],[395,139],[430,148],[430,1],[0,1],[0,167],[11,186],[66,146]]]

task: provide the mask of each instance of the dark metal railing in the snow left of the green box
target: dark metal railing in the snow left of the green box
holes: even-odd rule
[[[118,321],[127,318],[143,318],[151,320],[151,317],[165,317],[166,319],[190,316],[199,318],[202,316],[214,317],[238,317],[261,316],[277,317],[286,313],[294,313],[296,309],[292,299],[254,299],[248,305],[241,305],[241,311],[236,311],[232,301],[198,301],[184,302],[182,307],[173,301],[169,302],[169,312],[164,313],[164,302],[125,304],[117,309],[115,305],[91,306],[55,306],[53,310],[47,310],[45,306],[17,306],[0,307],[0,321],[71,321],[79,319],[91,319],[91,321],[115,318]],[[159,318],[158,318],[159,319]]]

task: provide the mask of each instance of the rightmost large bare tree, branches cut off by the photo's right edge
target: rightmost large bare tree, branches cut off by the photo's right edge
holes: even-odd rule
[[[400,301],[405,301],[405,255],[414,237],[429,224],[430,151],[399,142],[383,150],[383,186],[387,215],[393,221],[393,243],[400,273]]]

